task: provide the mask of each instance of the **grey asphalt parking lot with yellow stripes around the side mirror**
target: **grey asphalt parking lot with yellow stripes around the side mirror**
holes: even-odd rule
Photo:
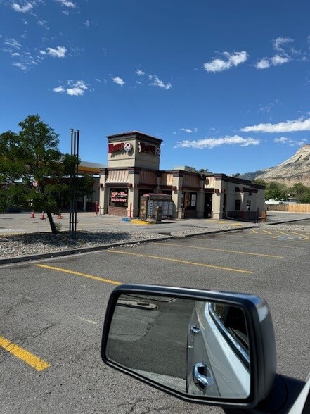
[[[306,226],[298,231],[269,226],[1,266],[1,410],[223,412],[179,401],[102,363],[105,307],[120,283],[263,296],[273,316],[278,372],[305,380],[310,372],[309,237]]]

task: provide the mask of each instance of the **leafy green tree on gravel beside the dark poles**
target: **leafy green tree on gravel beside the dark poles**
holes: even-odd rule
[[[70,199],[70,175],[79,161],[59,151],[58,134],[39,115],[28,116],[18,126],[18,134],[0,134],[0,208],[19,205],[44,211],[56,234],[52,212]],[[78,180],[79,195],[92,193],[91,180]]]

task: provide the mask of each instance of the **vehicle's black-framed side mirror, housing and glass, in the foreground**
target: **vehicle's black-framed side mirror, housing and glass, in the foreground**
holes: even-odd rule
[[[253,408],[271,391],[276,345],[259,296],[122,285],[110,296],[103,361],[191,402]]]

